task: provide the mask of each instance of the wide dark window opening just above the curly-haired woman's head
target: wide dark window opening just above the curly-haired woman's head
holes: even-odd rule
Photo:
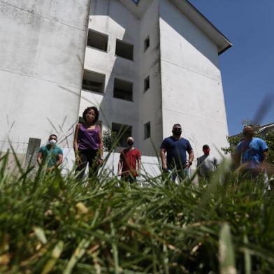
[[[82,79],[82,89],[90,92],[98,92],[103,94],[105,87],[106,75],[96,73],[94,71],[84,70],[84,77]]]

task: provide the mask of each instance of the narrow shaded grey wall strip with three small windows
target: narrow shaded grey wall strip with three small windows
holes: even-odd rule
[[[144,41],[150,37],[150,47],[144,52]],[[140,20],[140,149],[145,155],[154,155],[163,138],[161,111],[161,66],[159,41],[159,0],[153,0]],[[150,89],[143,90],[143,81],[150,75]],[[150,122],[151,137],[144,139],[144,124]],[[152,145],[153,144],[153,145]],[[154,147],[153,147],[154,146]]]

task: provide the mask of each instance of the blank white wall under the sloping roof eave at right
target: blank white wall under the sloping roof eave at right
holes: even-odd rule
[[[201,156],[203,144],[217,157],[227,145],[226,112],[217,47],[168,0],[160,1],[161,85],[164,137],[173,124]]]

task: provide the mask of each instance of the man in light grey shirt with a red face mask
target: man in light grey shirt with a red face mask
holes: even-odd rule
[[[197,168],[199,168],[199,177],[209,179],[210,175],[216,171],[217,159],[210,155],[210,147],[203,145],[203,156],[197,158]]]

